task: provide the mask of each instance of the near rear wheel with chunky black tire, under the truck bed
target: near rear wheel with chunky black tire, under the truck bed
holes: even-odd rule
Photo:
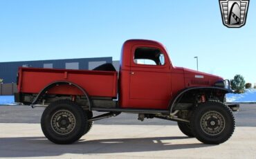
[[[58,100],[46,107],[41,127],[48,140],[55,144],[71,144],[87,129],[87,115],[71,100]]]

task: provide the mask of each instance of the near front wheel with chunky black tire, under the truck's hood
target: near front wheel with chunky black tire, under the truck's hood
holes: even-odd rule
[[[190,126],[199,141],[221,144],[235,131],[235,118],[231,109],[222,102],[208,101],[194,109]]]

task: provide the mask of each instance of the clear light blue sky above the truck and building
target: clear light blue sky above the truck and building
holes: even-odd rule
[[[223,26],[218,0],[0,1],[0,62],[113,57],[127,39],[164,44],[174,66],[256,83],[256,1]]]

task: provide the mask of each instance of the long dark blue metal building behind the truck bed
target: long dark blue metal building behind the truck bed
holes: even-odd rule
[[[101,64],[112,63],[112,57],[82,58],[82,59],[53,59],[27,62],[0,62],[0,79],[3,83],[16,83],[19,66],[35,68],[66,68],[92,70]]]

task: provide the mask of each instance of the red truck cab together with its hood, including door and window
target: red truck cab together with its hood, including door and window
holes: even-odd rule
[[[119,80],[120,106],[141,109],[168,109],[181,90],[224,82],[215,75],[173,66],[162,44],[140,39],[122,46]],[[224,94],[215,95],[223,100]]]

